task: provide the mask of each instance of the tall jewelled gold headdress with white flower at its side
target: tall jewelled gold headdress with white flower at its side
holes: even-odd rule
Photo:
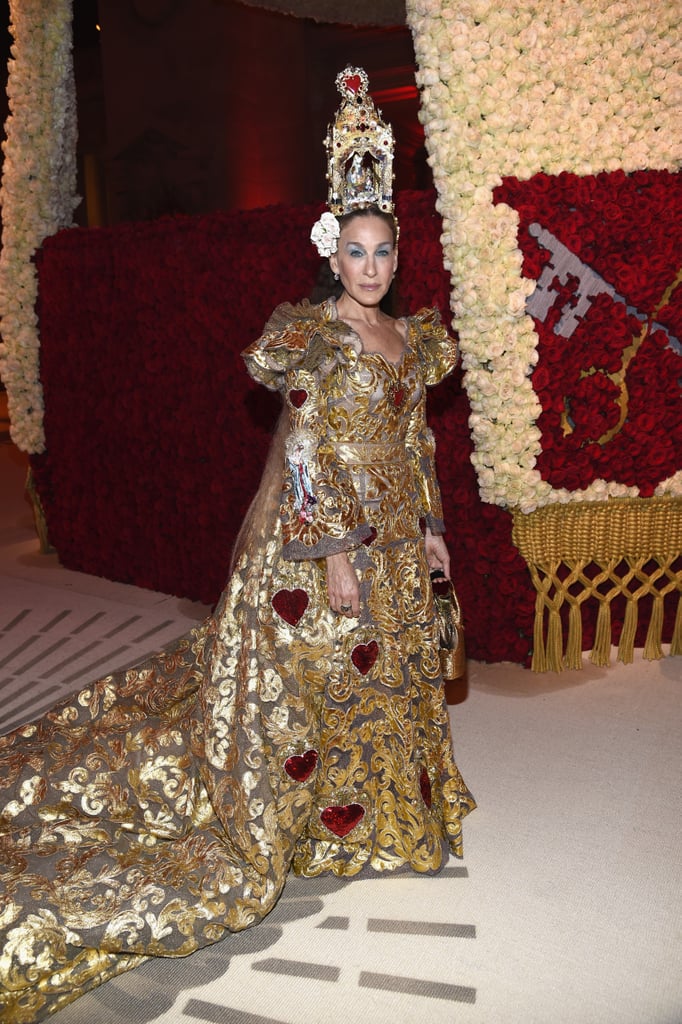
[[[361,68],[345,68],[336,76],[336,87],[343,99],[325,139],[329,212],[310,232],[321,256],[336,252],[338,216],[364,206],[393,212],[393,129],[368,94]]]

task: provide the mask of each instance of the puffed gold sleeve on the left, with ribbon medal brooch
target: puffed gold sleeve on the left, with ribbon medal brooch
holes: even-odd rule
[[[342,326],[309,303],[279,306],[242,353],[254,380],[279,390],[289,410],[280,504],[285,558],[349,551],[372,534],[350,475],[328,442],[330,382],[354,354]]]

